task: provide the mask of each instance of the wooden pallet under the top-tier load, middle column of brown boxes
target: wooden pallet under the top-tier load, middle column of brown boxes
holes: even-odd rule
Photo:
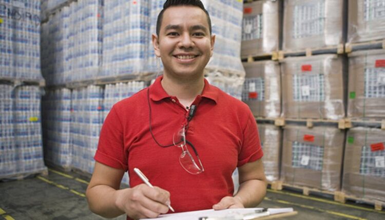
[[[286,57],[310,57],[313,55],[334,53],[334,54],[343,54],[345,52],[344,45],[338,44],[336,46],[328,46],[322,48],[306,48],[303,50],[280,50],[278,52],[278,60],[281,61]]]

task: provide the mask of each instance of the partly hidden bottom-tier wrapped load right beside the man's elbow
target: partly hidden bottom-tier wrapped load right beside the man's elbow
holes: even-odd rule
[[[268,181],[279,179],[279,164],[281,154],[281,130],[273,124],[258,123],[263,150],[263,168]]]

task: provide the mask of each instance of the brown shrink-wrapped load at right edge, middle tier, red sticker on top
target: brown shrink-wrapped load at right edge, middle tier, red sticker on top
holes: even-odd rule
[[[349,54],[348,117],[385,119],[385,50]]]

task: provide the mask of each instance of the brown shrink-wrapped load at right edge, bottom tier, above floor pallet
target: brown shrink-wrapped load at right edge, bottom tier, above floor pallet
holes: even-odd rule
[[[385,131],[349,130],[345,146],[342,191],[347,196],[385,201]]]

